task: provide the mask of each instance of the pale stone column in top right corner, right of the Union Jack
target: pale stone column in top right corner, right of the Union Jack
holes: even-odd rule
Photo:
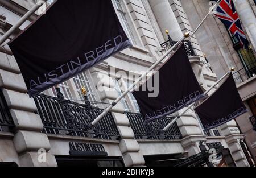
[[[233,2],[251,40],[251,44],[253,44],[254,50],[256,51],[256,16],[254,11],[251,9],[251,5],[247,0],[234,0]]]

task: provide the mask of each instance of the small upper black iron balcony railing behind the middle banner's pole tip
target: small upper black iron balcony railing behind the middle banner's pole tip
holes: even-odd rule
[[[170,40],[167,40],[166,42],[160,44],[161,47],[164,49],[164,51],[168,51],[169,49],[171,49],[171,47],[173,47],[177,42]],[[196,53],[192,47],[192,44],[190,41],[184,40],[184,45],[185,45],[185,49],[187,52],[188,56],[196,56]]]

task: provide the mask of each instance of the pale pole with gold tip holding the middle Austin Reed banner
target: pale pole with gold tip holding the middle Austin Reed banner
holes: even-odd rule
[[[130,92],[131,89],[134,88],[135,85],[137,85],[139,83],[139,81],[141,81],[142,78],[146,77],[148,72],[151,72],[158,64],[160,64],[162,62],[162,60],[164,58],[166,58],[166,56],[168,54],[170,54],[179,44],[180,42],[182,42],[185,38],[188,37],[189,34],[185,34],[180,40],[179,42],[177,42],[171,49],[169,49],[166,54],[164,54],[158,61],[156,61],[155,64],[153,64],[146,73],[142,74],[125,92],[123,92],[121,94],[121,96],[119,96],[110,106],[108,106],[96,119],[94,119],[94,121],[92,123],[90,123],[90,127],[95,126],[96,123],[98,121],[100,121],[100,119],[102,117],[104,117],[105,114],[107,114],[124,96],[126,96],[127,93]]]

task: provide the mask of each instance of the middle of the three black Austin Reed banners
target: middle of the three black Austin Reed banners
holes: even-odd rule
[[[155,79],[154,76],[133,92],[146,123],[175,113],[204,97],[193,73],[184,44],[158,72],[159,94],[157,97],[148,97],[148,94],[152,92],[147,85],[150,86],[148,82],[152,82],[153,86],[156,84],[157,77]]]

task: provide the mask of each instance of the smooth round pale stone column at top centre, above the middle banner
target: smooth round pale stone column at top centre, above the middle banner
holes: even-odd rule
[[[148,0],[148,2],[150,3],[164,38],[168,40],[165,31],[169,30],[172,40],[179,40],[183,34],[168,0]]]

